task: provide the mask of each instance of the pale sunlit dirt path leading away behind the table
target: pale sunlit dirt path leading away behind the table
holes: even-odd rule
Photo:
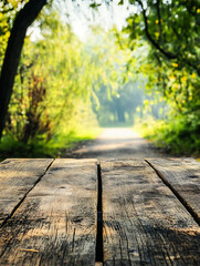
[[[158,157],[166,156],[151,143],[128,127],[105,129],[95,140],[82,147],[66,152],[65,157]]]

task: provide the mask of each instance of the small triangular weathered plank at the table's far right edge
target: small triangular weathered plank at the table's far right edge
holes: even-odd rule
[[[194,158],[149,158],[147,162],[200,224],[200,163]]]

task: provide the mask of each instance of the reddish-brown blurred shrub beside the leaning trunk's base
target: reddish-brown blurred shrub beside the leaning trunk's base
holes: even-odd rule
[[[24,79],[24,71],[21,66],[15,83],[15,90],[7,116],[6,130],[15,140],[28,143],[34,140],[38,134],[48,132],[51,134],[50,119],[44,105],[42,104],[45,95],[45,82],[41,75],[30,72]]]

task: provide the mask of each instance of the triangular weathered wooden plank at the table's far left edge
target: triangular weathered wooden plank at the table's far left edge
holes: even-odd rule
[[[52,158],[8,158],[0,163],[0,226],[45,173]]]

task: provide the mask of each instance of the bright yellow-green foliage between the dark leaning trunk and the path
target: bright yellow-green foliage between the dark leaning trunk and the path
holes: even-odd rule
[[[40,23],[40,38],[25,40],[15,78],[0,146],[8,156],[11,151],[13,156],[55,156],[57,149],[96,134],[91,54],[57,13],[42,16]]]

